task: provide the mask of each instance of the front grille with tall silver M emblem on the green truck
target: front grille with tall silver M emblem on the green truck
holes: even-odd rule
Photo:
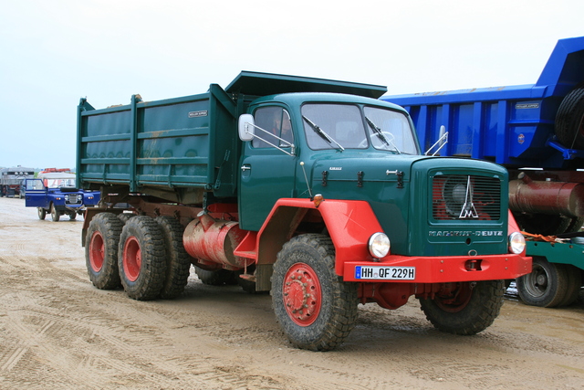
[[[498,220],[501,217],[501,181],[473,174],[434,176],[432,214],[435,220]]]

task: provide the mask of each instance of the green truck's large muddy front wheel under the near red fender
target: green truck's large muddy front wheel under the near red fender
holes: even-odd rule
[[[276,320],[290,343],[328,351],[347,339],[357,321],[357,283],[337,276],[329,237],[290,239],[277,254],[271,281]]]

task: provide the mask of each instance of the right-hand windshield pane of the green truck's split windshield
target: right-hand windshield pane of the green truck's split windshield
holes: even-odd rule
[[[371,144],[392,153],[419,154],[408,118],[399,111],[365,107]]]

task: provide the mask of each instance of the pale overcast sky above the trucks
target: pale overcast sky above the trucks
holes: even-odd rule
[[[533,84],[584,1],[53,0],[0,13],[0,166],[75,167],[76,107],[226,87],[241,70],[413,93]]]

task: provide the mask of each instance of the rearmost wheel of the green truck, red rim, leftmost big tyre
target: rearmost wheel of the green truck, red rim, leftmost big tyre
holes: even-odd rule
[[[99,213],[89,222],[85,263],[89,280],[100,290],[113,290],[121,286],[118,246],[122,226],[111,213]]]

